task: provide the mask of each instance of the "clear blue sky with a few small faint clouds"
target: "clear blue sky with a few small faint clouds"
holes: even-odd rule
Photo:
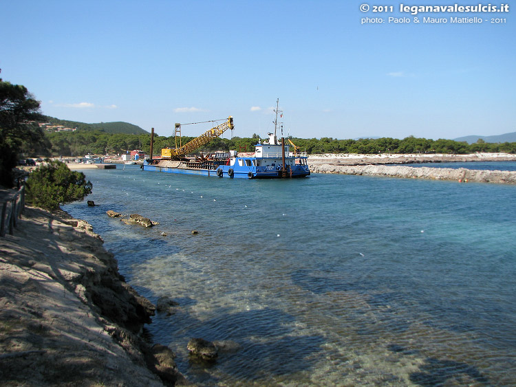
[[[372,12],[380,3],[394,11]],[[175,122],[233,115],[234,135],[265,137],[277,98],[294,137],[516,131],[516,1],[504,1],[504,13],[418,15],[398,12],[400,3],[455,4],[0,0],[0,77],[28,87],[46,115],[160,135],[172,135]],[[361,24],[365,17],[385,23]]]

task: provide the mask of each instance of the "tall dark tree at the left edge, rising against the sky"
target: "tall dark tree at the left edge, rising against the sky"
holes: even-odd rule
[[[46,153],[39,101],[23,85],[12,85],[0,78],[0,184],[12,186],[12,168],[21,153]]]

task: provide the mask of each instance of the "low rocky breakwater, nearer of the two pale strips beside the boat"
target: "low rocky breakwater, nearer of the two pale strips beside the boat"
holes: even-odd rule
[[[429,168],[410,166],[336,166],[330,164],[310,166],[313,173],[342,173],[345,175],[367,175],[405,177],[411,179],[436,179],[455,181],[477,181],[483,183],[516,184],[516,171],[471,170],[465,168]]]

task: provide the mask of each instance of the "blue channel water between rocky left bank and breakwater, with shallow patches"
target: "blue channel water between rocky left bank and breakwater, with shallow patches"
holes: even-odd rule
[[[84,172],[96,206],[63,208],[140,294],[178,302],[147,328],[195,384],[516,385],[516,186]]]

